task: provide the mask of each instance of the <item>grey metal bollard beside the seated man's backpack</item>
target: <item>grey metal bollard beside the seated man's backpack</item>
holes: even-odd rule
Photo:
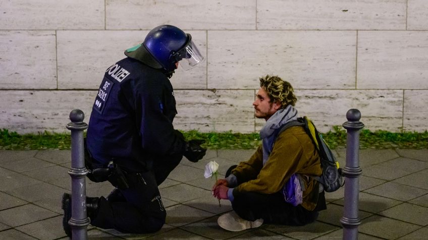
[[[347,130],[346,165],[342,170],[345,176],[345,204],[340,222],[343,225],[342,239],[352,240],[358,239],[358,225],[361,223],[358,217],[358,177],[362,172],[359,166],[359,131],[364,124],[359,121],[361,113],[358,109],[348,110],[346,118],[348,121],[342,125]]]

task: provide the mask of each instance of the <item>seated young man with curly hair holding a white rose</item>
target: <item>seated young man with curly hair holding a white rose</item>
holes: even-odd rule
[[[232,166],[225,179],[213,186],[213,195],[229,199],[234,211],[219,217],[219,225],[240,231],[262,223],[305,225],[326,209],[324,191],[314,178],[322,175],[318,153],[301,126],[281,132],[281,127],[297,119],[297,99],[290,83],[278,76],[260,78],[253,103],[255,117],[266,124],[260,130],[262,144],[248,161]],[[302,189],[301,203],[285,201],[283,190],[297,173]]]

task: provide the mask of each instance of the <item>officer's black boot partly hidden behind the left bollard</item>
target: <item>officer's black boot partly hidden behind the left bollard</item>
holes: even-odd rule
[[[87,216],[92,220],[97,213],[98,210],[98,197],[90,198],[86,197],[86,213]],[[72,236],[71,226],[68,224],[68,221],[71,219],[71,194],[64,193],[62,199],[62,207],[64,210],[63,217],[63,228],[66,232],[67,236]]]

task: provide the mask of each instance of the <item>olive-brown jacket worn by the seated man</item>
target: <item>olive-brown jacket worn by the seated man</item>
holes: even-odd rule
[[[312,140],[301,126],[290,127],[280,133],[264,166],[260,145],[248,161],[241,162],[232,171],[238,181],[233,195],[237,196],[240,192],[279,192],[293,173],[300,174],[304,179],[301,205],[313,210],[318,201],[319,183],[310,177],[320,176],[322,169]]]

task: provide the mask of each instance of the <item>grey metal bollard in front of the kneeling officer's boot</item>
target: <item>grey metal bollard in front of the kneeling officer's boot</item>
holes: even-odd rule
[[[88,170],[85,167],[83,130],[88,124],[83,122],[85,115],[82,110],[75,109],[70,112],[71,122],[67,128],[71,130],[71,219],[68,224],[72,228],[72,239],[88,239],[86,227],[89,218],[86,214],[86,183],[85,176]]]

